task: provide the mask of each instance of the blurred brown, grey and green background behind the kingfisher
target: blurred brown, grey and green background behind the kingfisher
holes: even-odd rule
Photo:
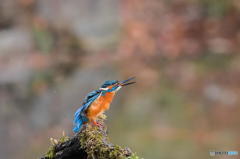
[[[107,112],[145,159],[240,146],[239,0],[1,0],[0,158],[40,158],[84,96],[137,77]]]

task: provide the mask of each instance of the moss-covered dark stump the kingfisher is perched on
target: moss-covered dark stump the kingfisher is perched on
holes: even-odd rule
[[[110,143],[104,120],[98,120],[102,127],[84,125],[72,138],[51,139],[53,145],[41,159],[137,159],[129,148]]]

